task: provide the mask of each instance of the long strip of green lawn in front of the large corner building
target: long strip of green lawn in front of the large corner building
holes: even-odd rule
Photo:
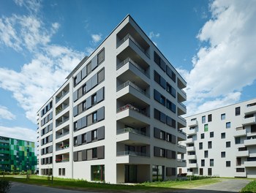
[[[100,190],[102,192],[123,192],[123,191],[154,191],[163,192],[171,191],[172,189],[190,189],[196,186],[203,186],[210,183],[217,183],[221,181],[218,178],[207,178],[195,181],[163,181],[163,182],[146,182],[137,183],[135,185],[125,184],[110,184],[110,183],[94,183],[83,180],[65,179],[65,178],[53,178],[53,184],[48,181],[45,176],[31,175],[29,180],[26,181],[26,175],[5,175],[9,181],[15,181],[20,183],[28,183],[39,186],[49,186],[64,189],[76,189],[76,190]]]

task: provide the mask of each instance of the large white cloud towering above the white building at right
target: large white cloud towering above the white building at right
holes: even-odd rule
[[[197,38],[207,42],[192,58],[187,80],[187,113],[238,102],[256,74],[256,1],[213,1],[211,19]],[[217,99],[216,99],[217,98]]]

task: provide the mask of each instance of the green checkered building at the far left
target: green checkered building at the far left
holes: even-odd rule
[[[37,156],[34,154],[34,142],[0,136],[0,170],[8,172],[34,172]]]

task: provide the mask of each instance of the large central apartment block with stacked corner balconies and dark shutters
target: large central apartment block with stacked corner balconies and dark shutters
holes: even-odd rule
[[[38,112],[39,175],[110,183],[185,166],[186,82],[127,15]]]

